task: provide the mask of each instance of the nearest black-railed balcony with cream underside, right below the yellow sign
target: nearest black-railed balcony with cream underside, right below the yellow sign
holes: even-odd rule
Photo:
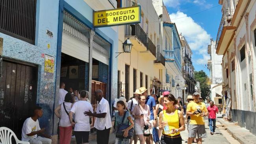
[[[126,25],[125,37],[130,38],[135,50],[139,52],[147,51],[147,34],[143,31],[139,24]]]

